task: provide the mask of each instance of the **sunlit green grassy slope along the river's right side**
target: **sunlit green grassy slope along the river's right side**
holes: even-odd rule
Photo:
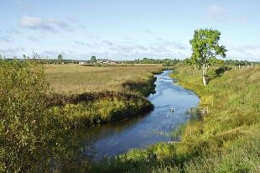
[[[181,141],[133,149],[96,172],[247,173],[260,171],[260,68],[236,69],[215,75],[203,87],[201,72],[182,64],[173,78],[200,96],[209,109],[202,121],[190,122]]]

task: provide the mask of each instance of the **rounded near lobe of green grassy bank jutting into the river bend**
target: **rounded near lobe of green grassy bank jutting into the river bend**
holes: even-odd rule
[[[151,90],[152,92],[153,90]],[[47,104],[55,106],[71,127],[94,127],[149,112],[153,105],[145,96],[120,92],[88,92],[70,96],[53,94]]]

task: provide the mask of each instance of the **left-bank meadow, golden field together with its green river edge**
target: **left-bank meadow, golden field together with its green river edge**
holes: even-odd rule
[[[153,74],[162,69],[159,65],[47,65],[46,78],[54,92],[48,104],[59,106],[73,126],[96,126],[140,115],[153,108],[145,97],[154,92]]]

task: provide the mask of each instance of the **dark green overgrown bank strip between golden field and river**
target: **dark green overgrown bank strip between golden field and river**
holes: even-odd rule
[[[97,67],[98,68],[98,67]],[[81,94],[51,94],[47,97],[50,106],[71,119],[72,127],[93,127],[143,115],[153,109],[146,98],[155,93],[156,77],[164,70],[150,71],[143,81],[127,81],[123,91],[85,92]]]

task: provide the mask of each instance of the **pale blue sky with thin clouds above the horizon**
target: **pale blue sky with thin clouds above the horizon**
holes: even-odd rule
[[[184,59],[213,28],[228,59],[260,61],[260,0],[0,0],[0,26],[6,57]]]

